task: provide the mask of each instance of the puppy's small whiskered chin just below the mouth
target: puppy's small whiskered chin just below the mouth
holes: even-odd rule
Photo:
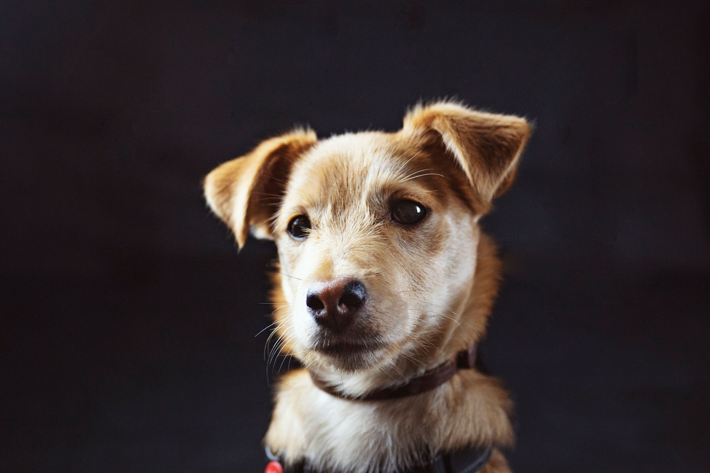
[[[361,372],[381,365],[387,350],[381,343],[320,343],[312,347],[318,362],[343,372]]]

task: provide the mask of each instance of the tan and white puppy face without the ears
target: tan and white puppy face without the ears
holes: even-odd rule
[[[330,138],[295,163],[273,232],[292,350],[378,367],[451,317],[478,236],[452,168],[384,133]]]

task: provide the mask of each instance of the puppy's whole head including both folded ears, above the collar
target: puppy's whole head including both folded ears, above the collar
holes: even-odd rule
[[[397,133],[266,140],[214,169],[205,195],[239,247],[250,229],[275,240],[290,352],[381,369],[456,329],[464,345],[484,329],[485,318],[459,317],[475,302],[477,221],[510,186],[529,135],[523,118],[417,106]]]

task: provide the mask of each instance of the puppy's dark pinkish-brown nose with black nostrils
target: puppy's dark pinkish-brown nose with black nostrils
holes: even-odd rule
[[[306,294],[306,306],[315,321],[338,331],[350,325],[365,304],[365,284],[354,279],[314,282]]]

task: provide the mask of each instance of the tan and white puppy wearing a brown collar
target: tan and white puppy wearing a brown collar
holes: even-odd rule
[[[436,101],[395,133],[297,128],[207,175],[240,249],[275,241],[275,333],[304,367],[275,392],[268,472],[510,471],[510,397],[472,363],[501,274],[479,218],[530,133]]]

